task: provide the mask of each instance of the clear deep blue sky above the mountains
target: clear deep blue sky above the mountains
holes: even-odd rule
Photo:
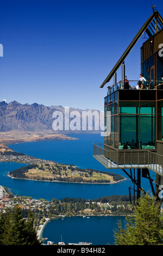
[[[102,111],[109,84],[99,87],[151,16],[152,5],[163,16],[157,0],[2,1],[0,101]],[[128,80],[139,79],[143,41],[126,59]]]

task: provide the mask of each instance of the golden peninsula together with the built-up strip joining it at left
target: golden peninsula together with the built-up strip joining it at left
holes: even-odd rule
[[[94,169],[81,169],[73,164],[63,164],[51,160],[37,159],[16,151],[5,151],[0,154],[0,162],[19,162],[29,164],[9,172],[11,178],[62,181],[77,183],[115,183],[124,180],[117,173],[102,172]]]

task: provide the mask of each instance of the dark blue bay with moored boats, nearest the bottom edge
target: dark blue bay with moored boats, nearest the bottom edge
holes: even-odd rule
[[[92,245],[114,244],[114,230],[118,221],[124,222],[124,216],[65,217],[48,222],[43,229],[43,237],[48,241],[65,244],[92,242]],[[45,241],[47,243],[47,241]]]

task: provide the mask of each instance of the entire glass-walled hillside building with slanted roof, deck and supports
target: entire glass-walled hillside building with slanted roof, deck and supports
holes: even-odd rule
[[[140,61],[140,74],[146,81],[141,81],[141,75],[140,81],[134,78],[127,81],[124,60],[142,33],[149,36],[142,44]],[[121,65],[122,78],[117,82],[116,72]],[[107,169],[122,169],[137,186],[136,190],[133,188],[137,198],[140,197],[141,177],[151,177],[149,170],[152,170],[156,173],[156,182],[151,178],[149,182],[156,201],[160,202],[159,186],[163,184],[163,19],[154,7],[153,14],[110,70],[101,88],[113,77],[114,84],[108,86],[108,94],[104,97],[104,144],[93,144],[93,157]],[[151,181],[155,183],[155,191]]]

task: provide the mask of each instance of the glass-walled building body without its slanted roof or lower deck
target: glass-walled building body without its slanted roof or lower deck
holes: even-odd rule
[[[163,143],[162,38],[163,28],[141,47],[141,74],[147,80],[141,89],[136,89],[136,84],[124,89],[120,81],[108,90],[104,112],[105,124],[110,120],[106,125],[110,132],[105,133],[105,149],[156,151],[157,141]]]

